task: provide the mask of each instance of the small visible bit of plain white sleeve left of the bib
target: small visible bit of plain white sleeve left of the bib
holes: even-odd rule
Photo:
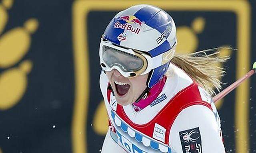
[[[110,136],[110,130],[104,139],[101,153],[127,153],[120,145],[118,145]]]

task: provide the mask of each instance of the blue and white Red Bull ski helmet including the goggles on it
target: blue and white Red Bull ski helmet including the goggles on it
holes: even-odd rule
[[[155,6],[132,6],[116,14],[106,27],[100,43],[101,67],[117,69],[124,77],[149,73],[151,88],[166,73],[176,43],[169,14]]]

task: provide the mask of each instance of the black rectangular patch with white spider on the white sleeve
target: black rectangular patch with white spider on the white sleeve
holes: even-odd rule
[[[183,153],[202,153],[202,141],[199,128],[180,131]]]

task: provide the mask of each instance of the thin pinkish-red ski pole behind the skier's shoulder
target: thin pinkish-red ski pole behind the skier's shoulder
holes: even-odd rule
[[[214,102],[217,102],[218,100],[220,100],[221,98],[223,98],[224,96],[226,96],[229,92],[231,92],[232,90],[234,90],[234,88],[236,88],[237,86],[239,86],[244,80],[246,80],[247,78],[250,78],[254,73],[256,73],[256,62],[254,62],[253,66],[252,66],[252,70],[249,71],[248,73],[246,73],[246,75],[244,75],[242,78],[236,80],[236,82],[232,83],[230,86],[228,86],[226,89],[222,90],[219,94],[217,94],[216,96],[214,96],[212,98],[212,100]]]

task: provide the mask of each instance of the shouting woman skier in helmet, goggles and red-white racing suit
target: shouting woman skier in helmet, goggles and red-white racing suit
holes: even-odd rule
[[[210,97],[228,57],[174,54],[176,27],[155,6],[119,12],[100,43],[100,88],[109,116],[102,153],[224,153]],[[209,94],[210,93],[210,94]]]

